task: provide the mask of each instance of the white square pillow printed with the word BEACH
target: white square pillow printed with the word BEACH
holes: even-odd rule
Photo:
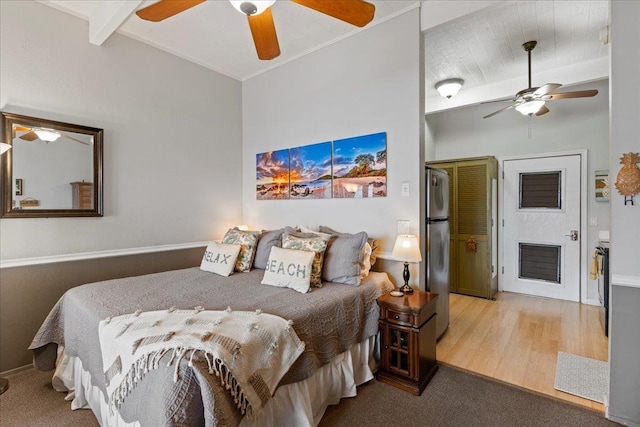
[[[314,256],[313,252],[272,246],[261,283],[309,292]]]

